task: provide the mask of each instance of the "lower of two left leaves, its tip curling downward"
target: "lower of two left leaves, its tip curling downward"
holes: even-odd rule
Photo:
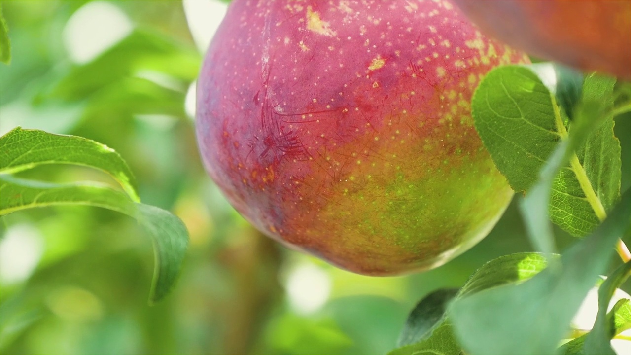
[[[186,226],[179,218],[160,208],[136,203],[126,194],[100,184],[52,184],[8,174],[0,176],[0,215],[51,205],[90,205],[137,219],[150,234],[155,250],[150,302],[167,295],[177,279],[188,244]]]

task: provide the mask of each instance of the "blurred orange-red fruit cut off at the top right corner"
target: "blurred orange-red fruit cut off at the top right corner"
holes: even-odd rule
[[[630,1],[457,1],[483,33],[584,71],[631,77]]]

